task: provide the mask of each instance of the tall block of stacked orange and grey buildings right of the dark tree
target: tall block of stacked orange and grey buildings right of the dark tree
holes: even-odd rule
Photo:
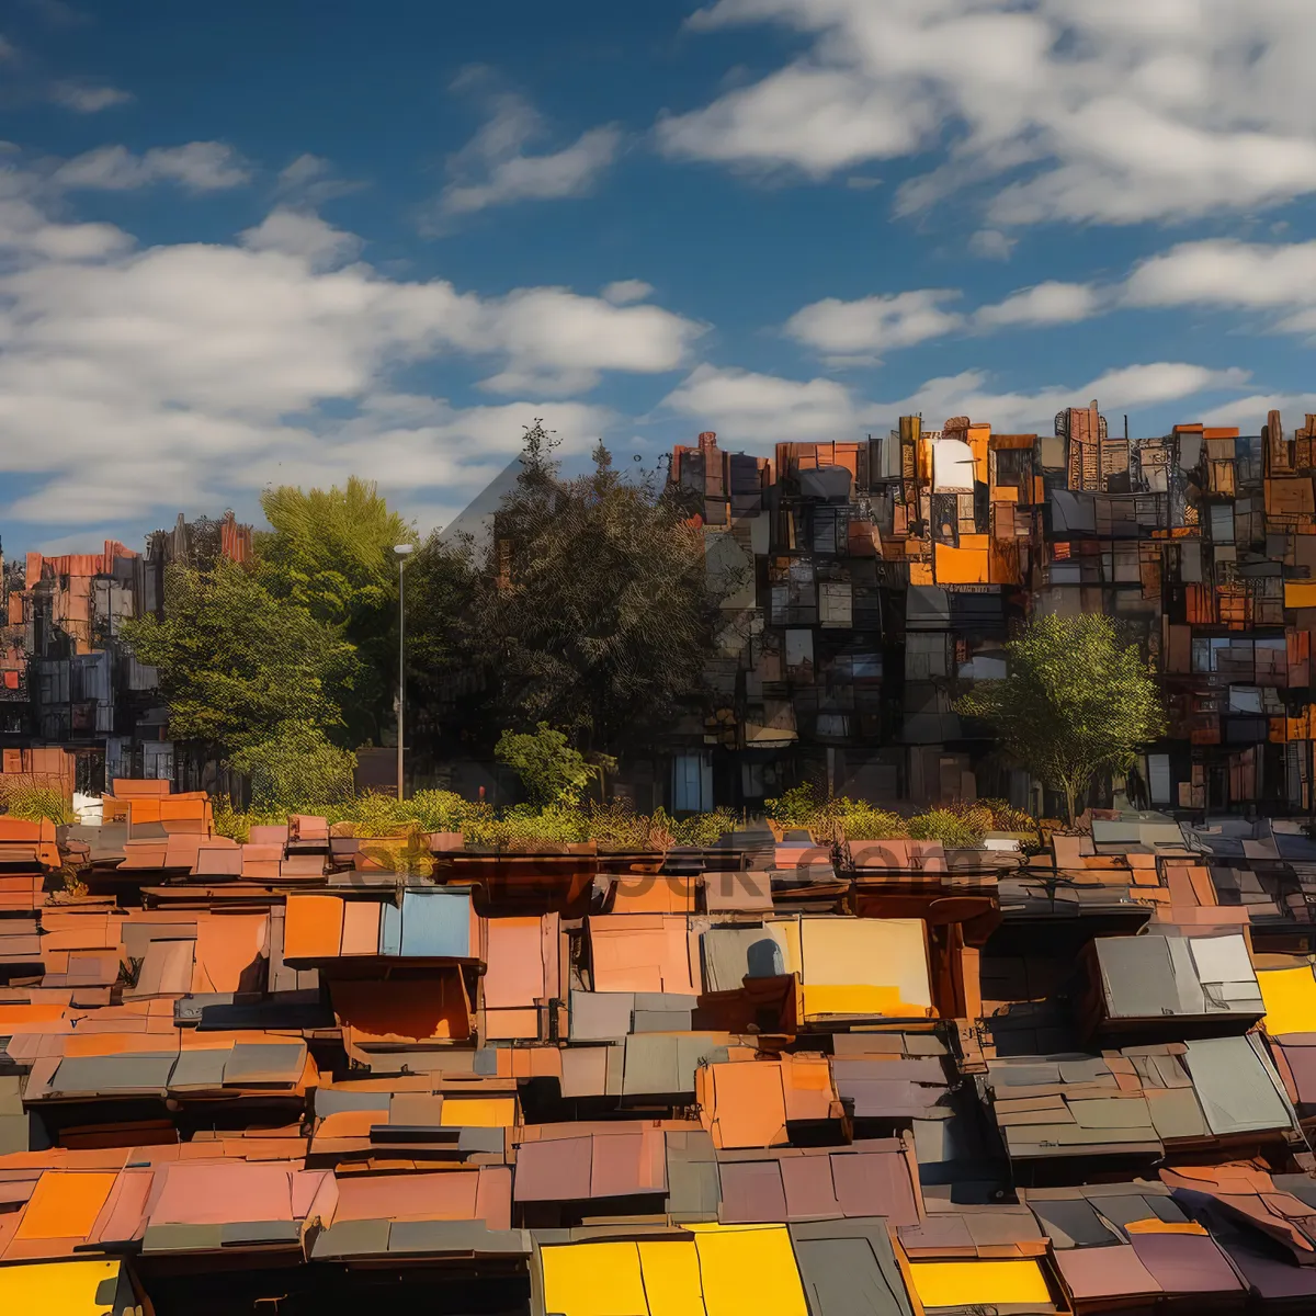
[[[1046,436],[907,416],[865,442],[779,443],[772,461],[711,433],[678,447],[671,479],[729,594],[716,711],[680,746],[674,803],[753,807],[809,776],[880,801],[1045,812],[954,697],[1004,674],[1029,616],[1104,612],[1170,711],[1105,803],[1309,813],[1313,421],[1130,440],[1092,403]]]

